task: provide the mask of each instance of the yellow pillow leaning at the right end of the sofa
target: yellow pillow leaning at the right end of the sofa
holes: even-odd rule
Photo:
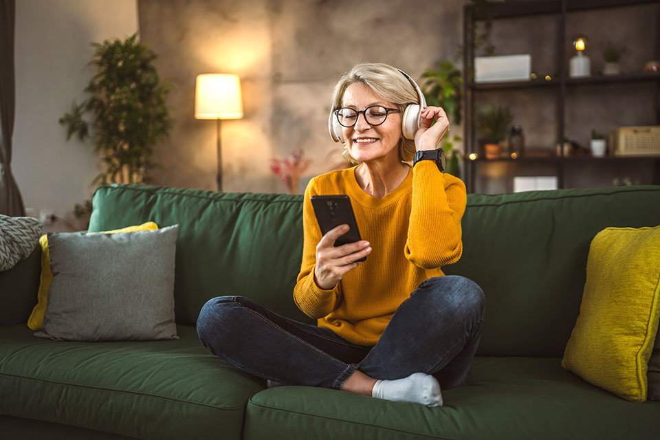
[[[562,367],[624,399],[646,401],[659,318],[660,226],[602,230],[591,241]]]

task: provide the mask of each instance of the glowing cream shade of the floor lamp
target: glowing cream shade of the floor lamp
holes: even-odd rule
[[[229,74],[201,74],[195,80],[195,119],[243,118],[241,82]]]

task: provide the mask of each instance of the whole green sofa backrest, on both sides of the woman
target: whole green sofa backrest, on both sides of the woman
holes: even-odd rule
[[[206,300],[252,298],[313,322],[292,294],[303,252],[302,195],[112,184],[98,188],[89,231],[180,224],[175,308],[193,325]],[[580,311],[591,239],[609,226],[660,224],[660,186],[468,195],[463,256],[443,267],[485,292],[477,355],[555,356]]]

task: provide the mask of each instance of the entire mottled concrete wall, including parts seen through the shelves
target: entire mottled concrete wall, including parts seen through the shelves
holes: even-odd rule
[[[243,81],[245,119],[223,122],[224,190],[284,192],[272,175],[270,157],[303,150],[314,159],[300,181],[340,162],[340,145],[327,135],[329,94],[356,61],[390,63],[419,78],[426,67],[451,60],[463,41],[463,0],[138,0],[140,32],[159,53],[165,78],[177,85],[170,97],[177,118],[161,148],[168,168],[151,175],[157,184],[216,189],[216,125],[193,118],[195,76],[235,73]],[[605,41],[624,43],[622,64],[639,71],[654,57],[657,5],[572,13],[566,33],[591,38],[593,74],[602,69]],[[495,21],[496,55],[531,54],[534,72],[558,75],[555,56],[558,16]],[[571,54],[569,54],[570,56]],[[568,59],[564,61],[568,64]],[[566,135],[588,143],[591,129],[654,124],[652,84],[571,89],[566,101]],[[487,92],[476,105],[507,104],[521,124],[527,146],[553,148],[557,89]],[[617,104],[618,103],[618,104]],[[625,109],[625,111],[624,111]],[[452,127],[463,135],[463,127]],[[459,144],[462,148],[462,145]],[[501,166],[499,168],[502,168]],[[546,167],[547,168],[547,167]],[[494,170],[484,192],[507,190]],[[516,170],[513,170],[517,173]],[[554,170],[525,170],[545,175]],[[611,179],[610,179],[611,180]],[[575,184],[589,186],[590,181]]]

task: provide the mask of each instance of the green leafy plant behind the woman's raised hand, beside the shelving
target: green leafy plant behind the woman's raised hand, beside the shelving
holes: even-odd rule
[[[447,113],[450,123],[461,124],[461,104],[463,102],[463,73],[451,61],[441,61],[438,69],[428,68],[422,74],[421,89],[426,103],[435,107],[442,107]],[[454,135],[451,140],[443,137],[441,148],[445,155],[445,173],[461,177],[459,163],[463,153],[454,148],[454,142],[461,142],[463,138]]]

